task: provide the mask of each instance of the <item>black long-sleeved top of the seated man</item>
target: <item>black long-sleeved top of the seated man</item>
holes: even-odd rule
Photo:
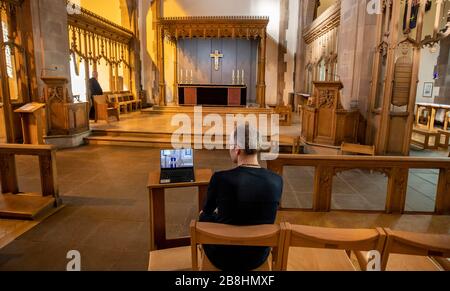
[[[200,221],[240,226],[273,224],[282,192],[283,179],[266,169],[239,167],[218,172],[211,178]],[[211,263],[224,271],[256,269],[270,253],[267,247],[203,248]]]

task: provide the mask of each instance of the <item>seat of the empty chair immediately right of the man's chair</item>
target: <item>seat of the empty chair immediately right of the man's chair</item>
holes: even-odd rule
[[[343,250],[291,247],[288,271],[356,271]]]

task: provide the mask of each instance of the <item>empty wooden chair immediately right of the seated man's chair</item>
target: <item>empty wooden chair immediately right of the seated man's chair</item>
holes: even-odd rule
[[[383,251],[386,235],[377,229],[285,226],[283,270],[355,271],[351,251]]]

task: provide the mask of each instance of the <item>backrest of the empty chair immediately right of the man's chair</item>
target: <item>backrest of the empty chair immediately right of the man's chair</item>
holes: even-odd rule
[[[287,268],[289,248],[304,247],[346,251],[383,252],[386,234],[382,228],[340,229],[285,223],[286,238],[283,254],[283,270]]]

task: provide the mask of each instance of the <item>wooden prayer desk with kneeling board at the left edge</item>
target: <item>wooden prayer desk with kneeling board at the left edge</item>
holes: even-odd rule
[[[38,156],[41,176],[41,194],[21,193],[17,180],[17,155]],[[56,148],[49,145],[0,145],[0,217],[34,219],[44,210],[58,207],[59,198]]]

